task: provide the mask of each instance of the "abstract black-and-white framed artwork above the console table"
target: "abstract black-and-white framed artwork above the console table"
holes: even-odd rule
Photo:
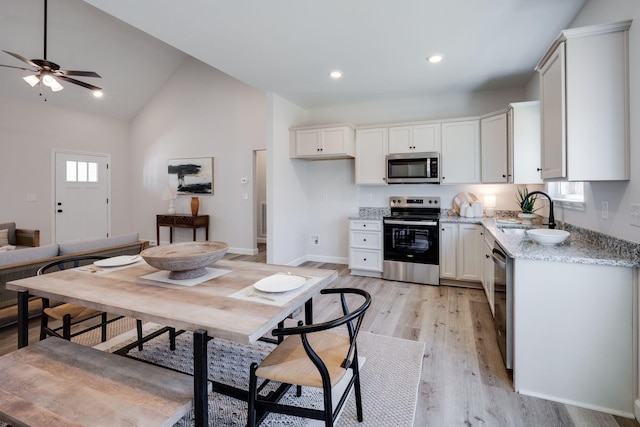
[[[213,194],[213,157],[170,159],[168,173],[177,194]]]

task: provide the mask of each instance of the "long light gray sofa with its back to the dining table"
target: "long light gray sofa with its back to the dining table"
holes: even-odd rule
[[[140,240],[138,233],[103,239],[86,240],[76,243],[51,244],[29,247],[14,251],[0,252],[0,328],[16,322],[16,314],[11,309],[17,303],[17,294],[6,289],[7,282],[35,276],[38,269],[52,261],[70,256],[135,255],[149,247],[147,240]],[[34,310],[38,310],[35,307]],[[37,314],[37,313],[33,313]]]

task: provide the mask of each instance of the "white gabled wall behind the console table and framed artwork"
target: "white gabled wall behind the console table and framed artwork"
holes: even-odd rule
[[[255,253],[254,150],[266,147],[266,132],[264,92],[187,58],[131,123],[133,228],[156,240],[155,216],[168,206],[160,196],[169,159],[214,157],[214,194],[200,196],[200,213],[210,216],[209,240],[227,242],[230,252]],[[190,213],[189,201],[178,196],[178,213]],[[175,229],[174,242],[190,241],[191,233]],[[168,228],[160,239],[169,240]]]

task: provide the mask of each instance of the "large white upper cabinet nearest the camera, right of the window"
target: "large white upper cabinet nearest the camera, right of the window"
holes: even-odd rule
[[[536,67],[543,179],[629,179],[630,25],[564,30]]]

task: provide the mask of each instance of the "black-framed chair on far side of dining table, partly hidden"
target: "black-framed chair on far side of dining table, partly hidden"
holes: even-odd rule
[[[65,270],[68,268],[77,268],[81,266],[87,266],[87,268],[93,268],[90,264],[94,261],[106,259],[107,257],[97,255],[76,256],[60,259],[46,264],[38,269],[37,275],[41,276],[53,271]],[[87,320],[100,317],[100,323],[93,324],[86,328],[76,328],[74,332],[71,332],[71,327],[83,323]],[[71,338],[92,331],[97,328],[101,328],[101,341],[107,340],[107,325],[122,319],[124,316],[116,316],[111,319],[108,318],[107,313],[92,308],[83,307],[73,303],[52,304],[48,298],[42,298],[42,316],[40,321],[40,340],[45,339],[47,336],[56,336],[65,340],[71,340]],[[54,319],[62,322],[62,326],[50,327],[49,320]],[[142,334],[142,321],[136,320],[136,329],[138,334],[138,348],[142,350],[143,334]],[[171,349],[175,349],[175,329],[167,328],[170,332]]]

